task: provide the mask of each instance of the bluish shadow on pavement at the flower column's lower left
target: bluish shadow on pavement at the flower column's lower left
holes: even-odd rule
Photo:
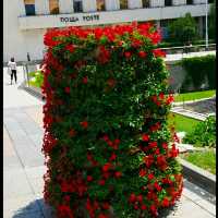
[[[12,218],[56,218],[56,216],[52,208],[40,198],[16,210]]]

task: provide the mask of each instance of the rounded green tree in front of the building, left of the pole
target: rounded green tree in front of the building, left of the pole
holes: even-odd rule
[[[181,41],[183,44],[197,38],[197,25],[190,13],[184,17],[179,17],[169,25],[169,40]]]

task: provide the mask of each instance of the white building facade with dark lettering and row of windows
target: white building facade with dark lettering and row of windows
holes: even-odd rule
[[[199,23],[206,0],[3,0],[3,61],[43,59],[44,34],[48,28],[154,21],[184,16],[190,12]],[[209,7],[208,7],[209,10]],[[165,23],[165,22],[164,22]]]

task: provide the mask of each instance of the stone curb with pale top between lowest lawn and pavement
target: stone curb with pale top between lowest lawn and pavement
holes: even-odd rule
[[[183,167],[183,175],[192,183],[201,186],[213,195],[216,195],[216,175],[196,167],[182,158],[178,158]]]

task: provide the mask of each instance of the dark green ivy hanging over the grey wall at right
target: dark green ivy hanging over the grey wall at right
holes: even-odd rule
[[[209,89],[216,87],[216,56],[208,55],[204,57],[184,58],[181,61],[186,71],[186,78],[183,82],[183,88],[193,83],[195,90],[199,90],[205,78],[208,80]]]

